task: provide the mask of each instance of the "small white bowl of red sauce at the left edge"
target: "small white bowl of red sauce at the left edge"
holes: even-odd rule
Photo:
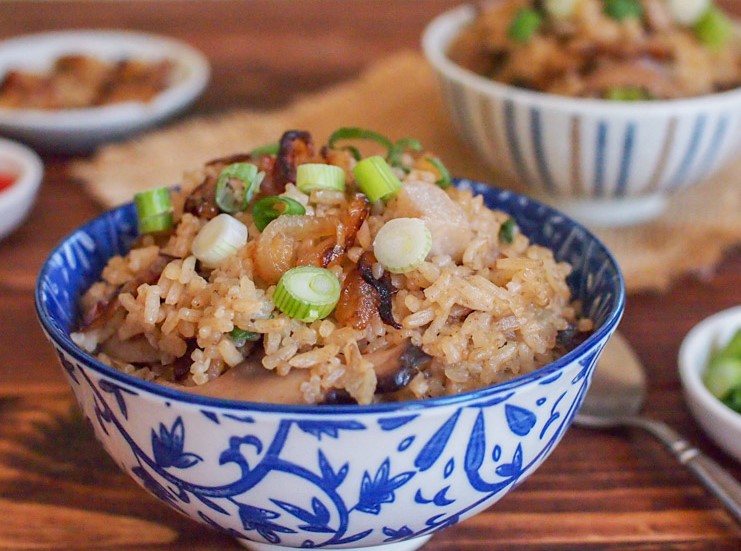
[[[26,146],[0,138],[0,172],[16,177],[10,187],[0,191],[2,239],[28,216],[44,177],[44,165]]]

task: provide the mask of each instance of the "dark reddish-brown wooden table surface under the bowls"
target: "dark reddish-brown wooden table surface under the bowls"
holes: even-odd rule
[[[190,42],[213,79],[192,113],[272,108],[417,47],[427,20],[456,2],[316,0],[3,1],[0,38],[65,28],[127,28]],[[741,2],[723,2],[741,16]],[[393,93],[393,90],[389,90]],[[47,156],[29,220],[0,242],[0,548],[214,549],[234,541],[150,497],[104,454],[35,318],[39,267],[59,239],[99,212]],[[676,356],[704,317],[741,304],[741,251],[666,294],[631,295],[620,330],[649,370],[646,412],[669,422],[741,479],[691,418]],[[490,510],[435,536],[426,551],[741,549],[741,528],[650,437],[572,428],[551,458]]]

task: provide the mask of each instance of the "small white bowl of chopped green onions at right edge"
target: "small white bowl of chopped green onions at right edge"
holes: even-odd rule
[[[741,306],[723,310],[703,320],[679,348],[679,377],[690,411],[718,446],[741,462],[741,413],[713,396],[703,374],[713,351],[728,343],[741,328]]]

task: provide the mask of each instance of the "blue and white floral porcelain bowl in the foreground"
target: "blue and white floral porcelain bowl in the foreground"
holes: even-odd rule
[[[585,342],[504,384],[371,406],[228,401],[136,379],[69,337],[78,298],[136,236],[129,204],[64,239],[36,288],[43,329],[111,457],[169,506],[256,550],[417,549],[522,483],[571,424],[623,312],[623,280],[605,247],[550,207],[457,185],[574,266],[569,284],[596,322]]]

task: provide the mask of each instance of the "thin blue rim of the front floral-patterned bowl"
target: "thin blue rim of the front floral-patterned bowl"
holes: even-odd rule
[[[615,306],[610,310],[604,323],[575,348],[573,348],[557,360],[546,364],[545,366],[536,369],[535,371],[532,371],[525,375],[514,377],[502,383],[497,383],[488,387],[483,387],[450,396],[440,396],[436,398],[426,398],[421,400],[407,400],[401,402],[386,402],[368,405],[344,404],[317,406],[316,404],[272,404],[263,402],[250,402],[245,400],[231,400],[189,393],[185,390],[167,387],[156,382],[145,381],[144,379],[128,375],[103,364],[99,360],[96,360],[89,354],[83,352],[77,345],[75,345],[70,339],[69,335],[64,334],[56,324],[51,323],[47,312],[44,311],[44,307],[42,306],[41,295],[46,286],[45,282],[48,277],[49,271],[53,268],[52,261],[57,254],[60,254],[61,249],[68,242],[70,242],[70,240],[76,234],[78,234],[78,232],[89,230],[94,224],[98,223],[105,217],[111,216],[115,212],[123,212],[125,209],[133,208],[132,203],[126,203],[124,205],[118,206],[117,208],[108,210],[95,217],[94,219],[89,220],[82,226],[67,234],[50,251],[47,259],[44,261],[44,264],[41,267],[39,276],[36,280],[34,290],[34,306],[36,315],[44,329],[44,332],[47,334],[48,338],[53,341],[55,347],[61,348],[66,354],[72,356],[73,358],[75,358],[75,360],[86,365],[93,371],[97,372],[99,375],[114,379],[130,387],[134,387],[137,390],[153,394],[160,398],[187,403],[189,405],[228,408],[232,410],[253,411],[262,413],[302,414],[317,417],[325,417],[327,415],[414,413],[423,409],[454,406],[460,405],[461,403],[465,402],[481,401],[489,396],[501,394],[502,392],[505,392],[509,389],[513,389],[531,383],[533,381],[547,379],[548,377],[561,372],[567,365],[570,365],[571,363],[577,361],[579,357],[582,356],[583,351],[589,350],[592,347],[596,346],[600,341],[605,339],[615,330],[625,310],[625,280],[620,270],[620,265],[618,264],[610,250],[602,243],[602,241],[597,236],[595,236],[591,231],[582,226],[579,222],[560,213],[553,207],[545,205],[544,203],[541,203],[540,201],[537,201],[530,197],[520,195],[516,192],[502,190],[488,184],[483,184],[481,182],[462,178],[455,178],[454,185],[472,185],[473,188],[478,188],[479,190],[491,190],[491,193],[510,193],[513,197],[527,201],[533,206],[544,209],[550,216],[559,216],[562,219],[567,220],[571,225],[573,225],[580,231],[583,231],[584,234],[589,237],[590,242],[596,245],[597,250],[599,250],[601,254],[604,254],[607,260],[612,264],[612,266],[614,266],[617,275],[618,289],[617,295],[615,297]],[[76,298],[79,299],[79,296]]]

